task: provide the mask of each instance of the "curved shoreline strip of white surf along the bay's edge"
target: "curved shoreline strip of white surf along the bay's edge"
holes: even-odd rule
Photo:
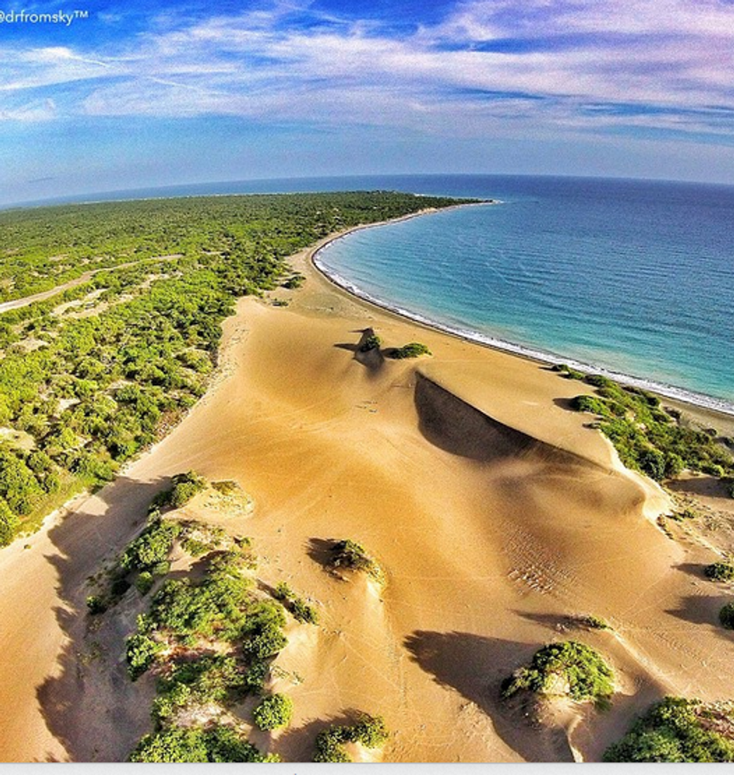
[[[326,237],[326,239],[319,242],[317,245],[308,249],[308,263],[312,265],[319,272],[319,274],[326,279],[334,287],[349,294],[353,298],[357,298],[367,305],[374,306],[380,309],[382,312],[389,312],[391,315],[396,315],[398,318],[408,320],[412,323],[422,325],[426,329],[432,329],[444,333],[448,336],[453,336],[456,339],[460,339],[464,342],[470,342],[483,347],[488,347],[491,350],[498,350],[502,353],[508,353],[525,360],[532,361],[534,363],[540,363],[543,365],[559,365],[561,363],[570,366],[573,369],[583,371],[584,374],[601,374],[604,377],[608,377],[620,384],[629,385],[630,387],[639,387],[643,390],[650,391],[660,398],[666,398],[670,401],[675,401],[684,405],[686,408],[693,410],[712,412],[714,415],[722,416],[729,422],[734,421],[734,404],[725,401],[723,398],[717,398],[704,393],[698,393],[696,391],[688,390],[684,387],[678,387],[677,385],[670,385],[655,382],[644,377],[636,377],[634,374],[624,374],[612,369],[608,369],[602,366],[594,365],[593,363],[585,363],[584,361],[575,360],[572,357],[564,357],[557,353],[547,352],[545,350],[535,349],[529,346],[525,346],[518,343],[508,342],[505,339],[498,339],[481,332],[474,331],[473,329],[456,328],[451,325],[432,320],[425,315],[421,315],[418,312],[412,312],[408,309],[402,308],[399,305],[391,304],[382,298],[378,298],[362,290],[357,285],[346,280],[338,272],[333,271],[326,267],[321,260],[319,260],[319,253],[326,247],[335,243],[339,239],[343,239],[350,234],[363,231],[364,229],[373,229],[377,226],[387,226],[388,224],[398,223],[408,219],[418,218],[422,215],[431,215],[436,212],[446,212],[454,208],[460,207],[474,207],[477,205],[495,205],[499,204],[498,200],[488,200],[487,202],[467,203],[466,205],[453,205],[449,208],[443,208],[436,210],[429,208],[421,210],[419,212],[412,213],[410,215],[401,216],[401,218],[391,219],[389,221],[381,221],[378,223],[367,223],[360,226],[353,226],[350,229],[344,229],[342,232],[337,232],[334,235]]]

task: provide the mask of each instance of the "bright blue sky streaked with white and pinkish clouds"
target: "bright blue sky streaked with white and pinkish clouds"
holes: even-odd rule
[[[734,183],[734,0],[0,0],[0,15],[2,203],[338,174]]]

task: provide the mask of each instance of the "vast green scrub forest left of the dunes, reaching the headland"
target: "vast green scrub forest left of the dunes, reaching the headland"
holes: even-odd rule
[[[0,314],[0,546],[171,429],[206,389],[234,300],[298,284],[285,257],[455,203],[377,191],[0,213],[0,303],[84,280]]]

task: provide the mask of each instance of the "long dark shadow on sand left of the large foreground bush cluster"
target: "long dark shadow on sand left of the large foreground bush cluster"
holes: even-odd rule
[[[102,615],[89,615],[85,601],[90,577],[136,535],[153,496],[167,484],[165,478],[143,483],[119,477],[48,533],[57,549],[46,559],[57,572],[61,605],[55,614],[66,643],[36,696],[47,728],[71,761],[126,760],[150,729],[154,681],[143,677],[133,684],[123,654],[135,629],[135,613],[128,610],[135,605],[126,605],[135,588]],[[86,510],[92,498],[102,501],[101,514]]]

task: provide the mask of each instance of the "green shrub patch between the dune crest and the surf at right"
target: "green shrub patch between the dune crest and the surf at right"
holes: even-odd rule
[[[584,376],[566,366],[555,369],[597,388],[596,395],[578,395],[572,404],[578,412],[598,415],[598,428],[626,467],[658,481],[686,468],[715,477],[734,475],[734,458],[717,443],[715,432],[684,427],[652,393],[599,374]]]

